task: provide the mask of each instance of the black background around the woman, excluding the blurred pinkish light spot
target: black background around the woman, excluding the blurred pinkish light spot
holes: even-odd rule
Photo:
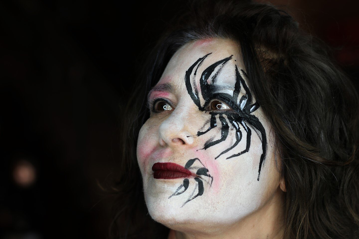
[[[120,161],[121,105],[141,62],[184,1],[0,2],[0,238],[106,238]],[[289,5],[358,88],[354,1]],[[20,160],[36,169],[16,183]]]

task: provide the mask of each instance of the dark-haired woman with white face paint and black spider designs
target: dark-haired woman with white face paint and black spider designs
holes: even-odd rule
[[[359,234],[358,94],[291,16],[196,1],[147,62],[123,133],[117,235]]]

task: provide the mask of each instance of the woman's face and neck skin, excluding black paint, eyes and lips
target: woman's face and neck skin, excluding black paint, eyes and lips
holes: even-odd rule
[[[275,160],[272,147],[274,137],[271,124],[261,107],[252,113],[264,126],[268,142],[259,181],[257,177],[262,144],[253,128],[249,152],[230,159],[226,158],[246,148],[243,127],[241,142],[218,159],[214,158],[236,140],[232,124],[229,124],[227,139],[206,150],[201,148],[207,140],[220,138],[218,116],[216,128],[199,137],[187,137],[209,127],[209,123],[205,124],[210,119],[209,112],[198,109],[186,90],[184,80],[188,68],[208,53],[212,54],[198,68],[197,76],[200,77],[205,68],[214,62],[233,55],[216,80],[218,86],[233,88],[236,81],[235,64],[244,70],[238,45],[232,40],[215,38],[190,42],[179,49],[157,83],[170,84],[173,91],[159,90],[150,95],[151,100],[160,97],[171,102],[172,110],[151,113],[140,130],[137,142],[137,160],[143,176],[149,214],[154,220],[173,229],[169,238],[283,238],[285,189],[281,184],[280,161]],[[233,90],[229,89],[223,89],[222,92],[233,94]],[[241,91],[239,98],[245,93]],[[201,104],[203,102],[201,98]],[[208,168],[213,183],[210,186],[207,183],[209,178],[201,176],[204,182],[203,195],[183,205],[197,184],[194,178],[189,177],[190,186],[186,192],[169,198],[183,183],[183,178],[155,179],[151,168],[157,162],[172,162],[184,167],[193,158],[199,158]]]

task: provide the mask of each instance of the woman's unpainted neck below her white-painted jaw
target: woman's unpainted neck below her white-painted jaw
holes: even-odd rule
[[[215,233],[186,233],[171,230],[168,239],[283,239],[284,195],[278,188],[274,196],[257,211],[234,224],[221,226]]]

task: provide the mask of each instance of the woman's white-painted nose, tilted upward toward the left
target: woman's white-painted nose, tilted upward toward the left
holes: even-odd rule
[[[188,130],[189,122],[185,111],[175,109],[159,126],[159,144],[170,147],[186,147],[193,145],[193,137]]]

